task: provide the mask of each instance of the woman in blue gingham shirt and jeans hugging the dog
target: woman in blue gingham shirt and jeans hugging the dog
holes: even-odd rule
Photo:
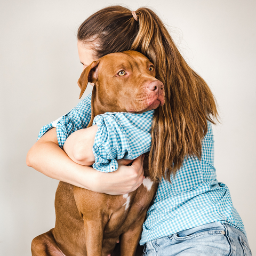
[[[83,68],[108,53],[135,50],[154,63],[156,77],[164,84],[165,104],[155,110],[151,129],[149,169],[160,183],[143,224],[140,244],[146,245],[145,255],[251,255],[229,190],[216,179],[214,97],[181,57],[162,21],[147,8],[131,12],[112,6],[85,20],[77,37]],[[90,114],[89,96],[44,126],[28,153],[28,165],[51,178],[107,194],[138,188],[143,181],[142,157],[131,166],[119,161],[112,173],[85,166],[93,162],[97,132],[97,126],[83,129]]]

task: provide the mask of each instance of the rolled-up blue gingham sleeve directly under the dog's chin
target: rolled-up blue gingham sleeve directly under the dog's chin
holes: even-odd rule
[[[118,169],[116,159],[135,159],[151,147],[154,110],[142,114],[105,113],[93,120],[98,125],[93,144],[93,168],[102,172]]]

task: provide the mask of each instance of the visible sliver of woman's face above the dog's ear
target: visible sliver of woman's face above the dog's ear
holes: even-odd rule
[[[83,64],[83,70],[89,66],[93,61],[97,60],[94,57],[93,45],[90,43],[84,44],[81,41],[77,41],[77,49],[80,62]]]

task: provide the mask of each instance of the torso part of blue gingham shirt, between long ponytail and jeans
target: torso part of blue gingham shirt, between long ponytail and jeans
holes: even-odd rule
[[[214,221],[226,222],[245,233],[234,209],[228,187],[219,183],[214,162],[211,123],[203,139],[202,158],[188,157],[171,176],[171,183],[159,183],[153,205],[143,223],[140,244]]]

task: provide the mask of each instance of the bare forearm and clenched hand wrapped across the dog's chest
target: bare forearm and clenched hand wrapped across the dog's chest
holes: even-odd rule
[[[143,181],[143,157],[131,166],[119,161],[118,170],[103,173],[72,161],[58,144],[56,129],[52,128],[29,150],[27,165],[57,180],[77,187],[110,195],[121,195],[137,189]]]

